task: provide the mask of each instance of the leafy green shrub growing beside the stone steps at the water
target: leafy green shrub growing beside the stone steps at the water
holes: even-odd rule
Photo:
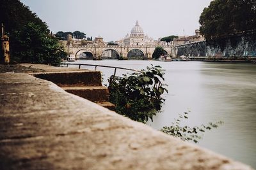
[[[167,90],[162,81],[160,66],[147,67],[140,73],[112,76],[109,79],[109,101],[116,105],[116,112],[138,122],[153,121],[164,102],[161,95]]]

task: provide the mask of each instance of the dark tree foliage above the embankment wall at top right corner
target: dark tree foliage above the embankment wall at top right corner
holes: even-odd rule
[[[256,32],[255,0],[214,0],[200,16],[200,31],[207,40],[230,34]]]

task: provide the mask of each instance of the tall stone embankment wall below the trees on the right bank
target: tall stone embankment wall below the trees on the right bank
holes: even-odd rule
[[[187,57],[256,57],[256,34],[178,45],[175,53]]]

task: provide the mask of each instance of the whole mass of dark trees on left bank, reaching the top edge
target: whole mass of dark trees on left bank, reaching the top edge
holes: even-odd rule
[[[66,55],[45,22],[20,1],[0,1],[0,16],[10,36],[11,62],[58,64]]]

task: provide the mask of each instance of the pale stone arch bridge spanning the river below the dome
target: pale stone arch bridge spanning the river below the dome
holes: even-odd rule
[[[119,56],[124,58],[128,57],[128,53],[132,50],[140,50],[145,59],[151,59],[154,53],[156,45],[145,45],[145,46],[113,46],[113,45],[106,45],[106,46],[95,46],[95,45],[87,45],[87,46],[64,46],[65,51],[68,54],[74,55],[76,58],[79,57],[81,53],[92,53],[92,56],[97,59],[102,58],[102,54],[106,50],[114,50]],[[174,46],[162,46],[164,51],[168,55],[175,55]]]

